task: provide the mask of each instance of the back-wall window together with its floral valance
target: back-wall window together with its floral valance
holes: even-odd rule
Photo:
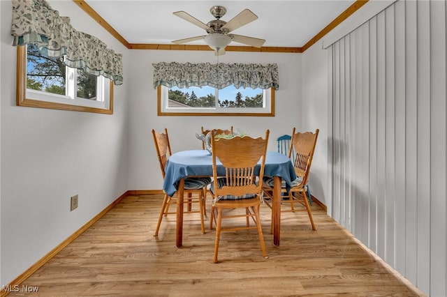
[[[154,63],[159,116],[274,116],[278,66]]]

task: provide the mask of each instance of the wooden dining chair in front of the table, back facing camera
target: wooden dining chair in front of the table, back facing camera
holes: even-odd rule
[[[268,258],[259,218],[268,135],[269,130],[266,130],[265,139],[249,136],[214,139],[214,132],[212,132],[213,181],[211,192],[213,201],[210,229],[215,222],[214,263],[217,263],[221,231],[257,229],[263,257]],[[223,166],[223,169],[219,169],[219,171],[217,159]],[[261,167],[259,172],[256,172],[255,167],[260,161]],[[235,209],[233,210],[233,208]],[[237,208],[244,208],[244,213],[239,213]],[[226,213],[223,213],[223,209],[227,210]],[[223,228],[222,219],[228,218],[245,218],[246,222],[244,226],[235,227],[232,225],[232,227]],[[250,220],[254,220],[255,224],[250,225]]]

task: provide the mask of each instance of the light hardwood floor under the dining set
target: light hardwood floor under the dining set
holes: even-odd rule
[[[282,213],[279,247],[261,206],[269,258],[256,230],[225,232],[213,264],[214,230],[201,234],[198,213],[184,215],[182,248],[175,215],[152,236],[162,199],[126,197],[20,285],[37,293],[8,296],[424,296],[316,204],[316,231],[307,213]]]

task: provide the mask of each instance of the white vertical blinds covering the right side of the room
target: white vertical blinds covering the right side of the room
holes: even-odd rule
[[[396,1],[329,47],[332,216],[447,296],[446,1]]]

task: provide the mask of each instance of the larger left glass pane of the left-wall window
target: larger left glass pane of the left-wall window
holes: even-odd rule
[[[65,95],[65,64],[42,56],[36,45],[27,45],[27,89]]]

